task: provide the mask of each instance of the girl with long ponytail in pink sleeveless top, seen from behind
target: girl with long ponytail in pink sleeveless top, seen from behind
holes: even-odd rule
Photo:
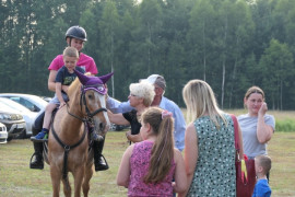
[[[170,197],[173,190],[185,190],[185,164],[180,151],[174,148],[172,116],[158,107],[142,114],[143,141],[126,150],[117,174],[117,184],[128,187],[128,196]]]

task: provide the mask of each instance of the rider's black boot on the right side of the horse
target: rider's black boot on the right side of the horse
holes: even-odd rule
[[[108,164],[102,154],[103,149],[104,149],[104,143],[105,143],[105,137],[103,138],[103,140],[94,141],[94,143],[93,143],[95,171],[108,170]]]

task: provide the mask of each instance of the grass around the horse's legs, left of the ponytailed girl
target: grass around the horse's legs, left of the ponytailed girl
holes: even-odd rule
[[[126,196],[127,189],[116,185],[116,175],[121,155],[128,147],[125,132],[108,132],[104,155],[110,169],[94,173],[91,179],[90,196]],[[33,143],[28,140],[12,140],[0,144],[0,196],[10,197],[45,197],[51,196],[51,179],[49,165],[44,170],[31,170],[30,159],[33,153]],[[70,182],[73,178],[70,174]],[[61,187],[62,188],[62,187]],[[73,186],[72,186],[73,190]],[[60,192],[63,196],[62,189]]]

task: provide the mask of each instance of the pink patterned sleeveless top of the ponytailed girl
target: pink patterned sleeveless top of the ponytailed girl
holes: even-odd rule
[[[128,196],[161,196],[172,197],[172,181],[175,173],[175,161],[165,179],[157,184],[145,184],[143,177],[149,171],[150,158],[153,148],[152,141],[141,141],[134,144],[132,155],[130,158],[131,175],[128,186]]]

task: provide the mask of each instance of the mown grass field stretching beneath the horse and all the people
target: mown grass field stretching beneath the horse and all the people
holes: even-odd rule
[[[229,112],[241,114],[243,111]],[[274,113],[274,112],[273,112]],[[270,114],[273,114],[270,113]],[[292,114],[293,113],[293,114]],[[275,118],[295,117],[294,112],[278,113]],[[127,190],[116,185],[116,175],[121,155],[128,147],[125,132],[107,134],[104,155],[110,165],[108,171],[95,173],[91,181],[90,196],[121,197]],[[295,132],[275,132],[269,142],[269,155],[273,165],[270,175],[272,196],[295,196]],[[12,140],[0,144],[0,197],[51,196],[49,166],[43,171],[30,170],[28,162],[33,143],[28,140]],[[72,178],[70,176],[72,183]],[[60,193],[63,196],[62,192]]]

